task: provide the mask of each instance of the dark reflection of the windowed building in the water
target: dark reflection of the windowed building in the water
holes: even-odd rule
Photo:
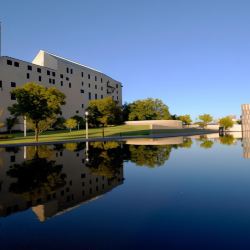
[[[85,144],[0,149],[0,216],[32,207],[45,221],[122,184],[116,146],[90,144],[87,163]]]

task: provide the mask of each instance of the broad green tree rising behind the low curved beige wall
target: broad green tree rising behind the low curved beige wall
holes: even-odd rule
[[[164,120],[170,119],[168,106],[160,99],[147,98],[137,100],[130,105],[129,120]]]

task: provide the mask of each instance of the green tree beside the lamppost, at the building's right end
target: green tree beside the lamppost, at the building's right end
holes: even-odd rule
[[[106,97],[99,100],[91,100],[88,106],[89,122],[91,125],[104,127],[107,125],[121,124],[122,111],[117,103]]]

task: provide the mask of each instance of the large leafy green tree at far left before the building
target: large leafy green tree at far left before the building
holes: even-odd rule
[[[65,95],[56,88],[46,88],[37,83],[26,83],[11,92],[17,103],[9,107],[14,116],[26,116],[35,127],[35,140],[38,141],[39,122],[52,118],[61,112],[65,104]]]

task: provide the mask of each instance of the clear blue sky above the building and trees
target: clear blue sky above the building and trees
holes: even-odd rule
[[[249,0],[9,0],[0,18],[4,55],[89,65],[123,83],[124,101],[193,117],[250,103]]]

